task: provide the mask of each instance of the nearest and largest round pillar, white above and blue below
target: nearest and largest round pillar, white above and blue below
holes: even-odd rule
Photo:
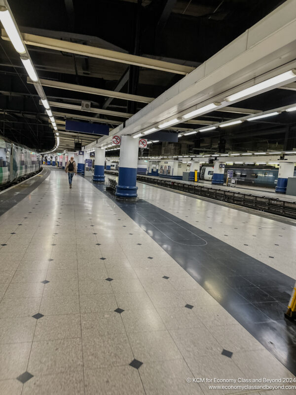
[[[137,167],[138,167],[139,139],[131,136],[121,136],[118,185],[115,196],[137,197]]]

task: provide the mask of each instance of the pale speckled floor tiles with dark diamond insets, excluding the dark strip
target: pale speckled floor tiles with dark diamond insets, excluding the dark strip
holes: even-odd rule
[[[139,185],[139,195],[293,276],[293,226],[150,186]],[[247,250],[251,229],[259,241]],[[281,245],[271,247],[277,233]],[[294,375],[82,177],[70,190],[67,176],[52,171],[0,216],[0,244],[1,395],[295,394],[187,382]]]

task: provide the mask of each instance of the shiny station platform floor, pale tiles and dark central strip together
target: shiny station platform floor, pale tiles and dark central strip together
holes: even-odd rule
[[[1,395],[295,394],[295,221],[46,171],[0,195]]]

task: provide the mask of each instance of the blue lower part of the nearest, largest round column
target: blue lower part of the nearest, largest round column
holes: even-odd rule
[[[137,169],[130,167],[119,167],[118,184],[115,196],[124,198],[135,198],[138,196],[136,186]]]

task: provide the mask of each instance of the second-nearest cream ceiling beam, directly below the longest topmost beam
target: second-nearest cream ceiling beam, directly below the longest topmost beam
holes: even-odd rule
[[[51,88],[72,90],[74,92],[89,93],[92,95],[99,95],[99,96],[109,96],[109,97],[114,97],[116,99],[132,100],[141,103],[150,103],[151,101],[154,100],[153,97],[145,97],[145,96],[131,95],[129,93],[114,92],[112,90],[107,90],[107,89],[92,88],[91,86],[75,85],[74,83],[52,81],[50,79],[41,79],[41,78],[39,80],[42,86],[49,86]],[[27,82],[33,83],[32,79],[30,79],[29,77],[27,77]]]

